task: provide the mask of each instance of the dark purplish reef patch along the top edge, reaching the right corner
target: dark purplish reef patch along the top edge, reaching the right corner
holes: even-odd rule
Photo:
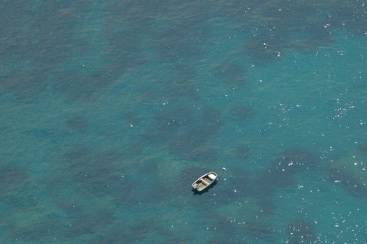
[[[322,5],[310,1],[221,3],[220,8],[213,8],[214,13],[220,11],[220,16],[251,36],[244,52],[260,65],[276,61],[278,52],[281,58],[285,49],[311,52],[329,46],[337,31],[362,35],[367,25],[366,6],[341,0]]]

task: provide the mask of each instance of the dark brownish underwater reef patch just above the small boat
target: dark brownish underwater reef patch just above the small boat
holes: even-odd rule
[[[223,125],[217,109],[179,107],[160,112],[155,119],[157,130],[144,136],[150,144],[166,145],[170,153],[186,160],[218,160],[216,147],[207,144]]]

